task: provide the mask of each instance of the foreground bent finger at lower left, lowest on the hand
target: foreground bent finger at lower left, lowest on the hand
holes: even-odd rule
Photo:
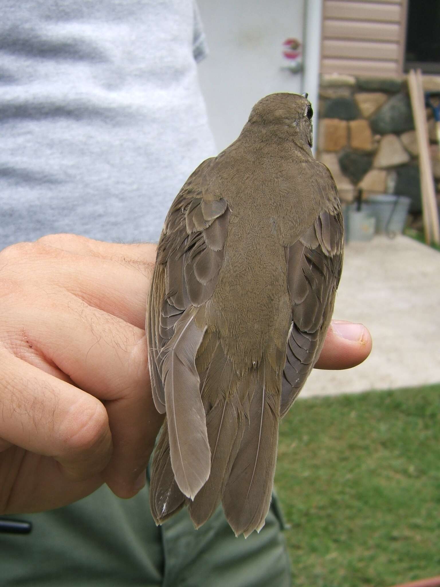
[[[74,480],[100,473],[112,452],[103,404],[5,349],[0,350],[0,357],[2,438],[55,458]]]

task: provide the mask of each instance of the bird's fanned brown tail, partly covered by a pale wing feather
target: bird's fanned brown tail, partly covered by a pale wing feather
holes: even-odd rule
[[[235,534],[247,537],[254,529],[259,531],[263,527],[269,510],[276,463],[280,382],[270,367],[237,373],[214,333],[206,332],[198,345],[195,365],[199,369],[206,366],[200,374],[199,400],[206,414],[211,454],[209,476],[195,495],[185,498],[175,481],[168,423],[153,458],[151,511],[160,524],[186,503],[198,528],[222,501]],[[194,461],[186,460],[192,461],[191,453],[186,454],[182,467],[194,465]]]

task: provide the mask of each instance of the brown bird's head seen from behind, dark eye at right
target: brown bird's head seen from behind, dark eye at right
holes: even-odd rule
[[[307,100],[307,94],[277,93],[259,100],[248,122],[273,129],[277,136],[293,140],[307,149],[313,144],[312,116],[312,104]]]

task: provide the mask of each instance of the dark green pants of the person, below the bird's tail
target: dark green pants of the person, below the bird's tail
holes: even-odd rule
[[[156,527],[148,487],[120,500],[107,487],[59,510],[17,518],[28,535],[0,534],[0,586],[288,587],[276,498],[266,525],[235,538],[219,508],[195,530],[182,510]]]

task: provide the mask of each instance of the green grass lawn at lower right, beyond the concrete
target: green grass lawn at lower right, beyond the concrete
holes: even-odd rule
[[[440,575],[440,384],[298,400],[275,483],[293,587]]]

